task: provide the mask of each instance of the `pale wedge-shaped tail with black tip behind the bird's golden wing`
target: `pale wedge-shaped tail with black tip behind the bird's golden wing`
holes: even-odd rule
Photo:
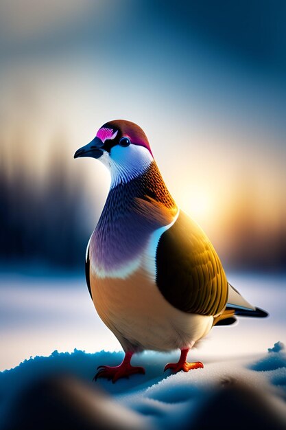
[[[234,310],[235,315],[240,317],[257,317],[264,318],[268,314],[265,310],[256,308],[252,304],[248,303],[247,300],[235,289],[234,286],[228,282],[228,302],[226,309]]]

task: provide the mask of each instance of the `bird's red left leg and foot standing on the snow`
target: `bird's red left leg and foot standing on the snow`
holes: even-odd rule
[[[112,379],[112,383],[115,383],[119,378],[128,378],[135,373],[145,374],[144,367],[131,365],[130,361],[133,354],[134,352],[127,351],[122,363],[118,366],[98,366],[97,370],[99,369],[99,371],[93,381],[96,381],[97,378],[108,378],[108,380]]]

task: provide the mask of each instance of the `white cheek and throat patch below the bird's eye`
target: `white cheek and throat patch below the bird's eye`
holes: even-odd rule
[[[152,155],[147,148],[139,145],[113,146],[110,155],[105,152],[102,161],[110,170],[110,189],[115,188],[119,183],[128,183],[132,179],[139,177],[147,170],[152,161]]]

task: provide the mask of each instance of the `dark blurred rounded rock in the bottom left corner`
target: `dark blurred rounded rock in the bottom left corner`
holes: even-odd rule
[[[99,389],[71,376],[55,376],[33,383],[11,399],[1,429],[134,430],[145,426],[141,416]]]

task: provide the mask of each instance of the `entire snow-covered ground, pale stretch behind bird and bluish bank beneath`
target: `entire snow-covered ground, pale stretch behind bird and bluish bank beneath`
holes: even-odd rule
[[[92,389],[102,387],[139,416],[143,428],[180,429],[210,393],[232,381],[254,387],[273,403],[275,413],[286,417],[286,355],[281,343],[268,351],[286,340],[285,277],[232,275],[229,280],[270,317],[241,318],[235,326],[213,328],[189,354],[204,369],[163,374],[178,352],[145,352],[132,359],[145,367],[144,376],[116,384],[99,380]],[[0,294],[0,418],[14,394],[37,378],[68,373],[90,384],[97,365],[120,363],[121,348],[97,317],[82,278],[2,275]]]

